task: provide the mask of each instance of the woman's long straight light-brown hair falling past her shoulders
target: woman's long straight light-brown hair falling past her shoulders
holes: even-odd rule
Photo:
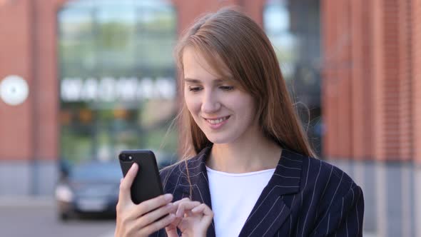
[[[258,122],[265,136],[283,148],[316,156],[293,108],[273,46],[255,21],[232,7],[197,19],[176,46],[181,79],[183,49],[187,46],[201,52],[221,76],[225,76],[222,69],[228,68],[241,88],[253,96]],[[178,81],[178,88],[183,93],[183,80]],[[183,160],[212,144],[193,120],[184,101],[178,119]]]

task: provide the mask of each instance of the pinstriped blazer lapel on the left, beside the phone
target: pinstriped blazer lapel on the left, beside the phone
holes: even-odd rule
[[[183,171],[183,173],[190,177],[190,182],[188,182],[186,176],[183,178],[181,187],[183,187],[183,197],[190,197],[191,200],[200,201],[212,208],[208,173],[206,171],[206,158],[208,158],[210,150],[211,146],[208,146],[204,148],[201,153],[198,153],[196,157],[191,158],[191,161],[188,162],[188,169]],[[206,236],[215,237],[215,223],[213,220],[208,228]]]

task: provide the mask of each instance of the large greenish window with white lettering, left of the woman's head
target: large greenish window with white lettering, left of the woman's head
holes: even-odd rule
[[[174,156],[176,133],[163,141],[177,109],[173,6],[79,0],[57,17],[62,158],[109,160],[136,148]]]

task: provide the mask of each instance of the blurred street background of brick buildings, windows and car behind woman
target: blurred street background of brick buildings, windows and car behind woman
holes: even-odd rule
[[[365,236],[421,236],[421,0],[0,0],[0,236],[113,236],[118,153],[178,159],[178,36],[233,5],[362,187]]]

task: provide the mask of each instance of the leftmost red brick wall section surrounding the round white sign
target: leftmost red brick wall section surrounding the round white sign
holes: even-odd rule
[[[5,1],[0,5],[0,80],[18,75],[29,84],[29,99],[23,104],[9,106],[0,100],[0,160],[26,160],[33,152],[31,16],[29,1]]]

